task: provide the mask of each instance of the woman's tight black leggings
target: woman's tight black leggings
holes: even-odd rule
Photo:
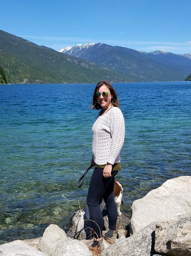
[[[102,237],[103,216],[100,210],[102,199],[105,202],[108,213],[109,228],[111,230],[116,229],[118,213],[113,195],[113,187],[114,177],[117,173],[118,171],[111,172],[111,177],[104,178],[103,169],[95,168],[93,171],[86,201],[89,208],[90,219],[92,220],[92,227],[96,233],[94,234],[95,237],[97,237],[97,235],[99,238]]]

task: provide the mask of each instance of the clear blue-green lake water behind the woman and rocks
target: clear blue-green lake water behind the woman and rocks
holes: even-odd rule
[[[191,175],[191,83],[113,84],[125,118],[122,184],[133,200],[167,179]],[[0,85],[0,243],[62,227],[86,208],[91,178],[89,103],[95,84]]]

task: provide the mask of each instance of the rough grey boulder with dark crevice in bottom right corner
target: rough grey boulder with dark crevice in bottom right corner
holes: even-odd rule
[[[191,256],[191,215],[158,222],[155,251],[170,256]]]

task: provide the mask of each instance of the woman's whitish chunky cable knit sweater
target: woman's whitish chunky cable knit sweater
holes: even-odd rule
[[[92,127],[92,152],[96,164],[120,162],[120,150],[125,137],[125,122],[118,107],[112,107],[105,115],[96,118]]]

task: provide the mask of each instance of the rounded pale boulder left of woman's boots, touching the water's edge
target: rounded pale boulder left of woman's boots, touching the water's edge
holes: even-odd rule
[[[56,245],[65,241],[68,241],[66,233],[57,225],[51,224],[45,229],[41,238],[40,250],[48,256],[55,256]]]

